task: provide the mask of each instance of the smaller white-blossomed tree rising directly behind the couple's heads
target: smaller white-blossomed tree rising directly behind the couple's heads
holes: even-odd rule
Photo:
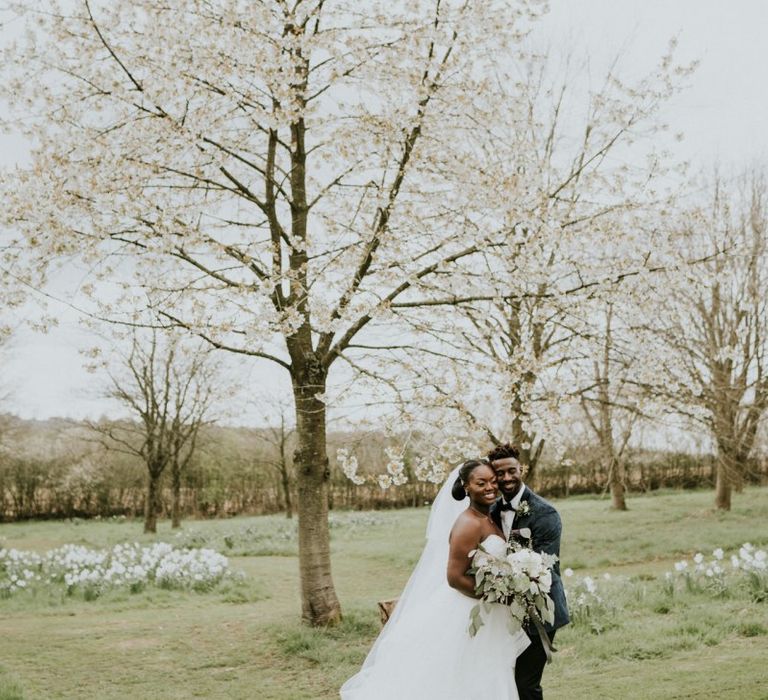
[[[674,210],[670,183],[680,172],[658,145],[659,111],[693,69],[676,65],[673,50],[631,84],[614,65],[582,91],[539,57],[500,79],[505,116],[494,121],[488,108],[478,138],[493,156],[477,178],[486,216],[507,222],[511,235],[493,255],[473,258],[462,293],[392,303],[421,342],[368,349],[393,353],[384,388],[403,407],[400,426],[438,441],[436,425],[478,444],[510,440],[533,482],[545,436],[562,445],[564,409],[595,386],[591,360],[586,374],[572,365],[615,345],[603,309],[621,297],[622,314],[637,315],[657,273],[695,263],[659,226]],[[636,371],[642,359],[634,357]],[[400,394],[404,367],[419,390]],[[424,408],[421,423],[414,404]]]

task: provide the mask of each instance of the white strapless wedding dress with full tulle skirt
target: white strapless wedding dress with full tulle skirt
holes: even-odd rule
[[[498,535],[482,544],[491,553],[506,551]],[[426,601],[385,625],[363,668],[341,688],[342,700],[517,700],[515,659],[527,635],[511,634],[505,606],[494,604],[471,637],[477,601],[442,580]]]

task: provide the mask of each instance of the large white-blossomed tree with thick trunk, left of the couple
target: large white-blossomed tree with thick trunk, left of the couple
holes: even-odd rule
[[[353,345],[392,334],[393,304],[506,244],[510,223],[475,199],[476,125],[538,5],[17,5],[30,30],[4,87],[36,145],[5,178],[3,223],[30,266],[80,261],[91,313],[178,326],[286,373],[312,624],[341,614],[331,370],[367,362]]]

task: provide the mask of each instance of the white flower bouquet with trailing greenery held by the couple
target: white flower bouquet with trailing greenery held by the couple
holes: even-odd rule
[[[532,622],[554,622],[555,605],[549,597],[552,586],[553,554],[534,552],[528,547],[496,542],[481,544],[472,553],[469,574],[475,578],[475,593],[480,602],[470,611],[469,633],[475,636],[483,626],[483,613],[490,604],[501,603],[509,610],[509,630],[517,632]],[[498,546],[490,546],[497,544]]]

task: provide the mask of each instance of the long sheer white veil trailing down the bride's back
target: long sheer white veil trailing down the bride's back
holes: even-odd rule
[[[408,583],[405,585],[395,610],[379,634],[371,651],[363,663],[360,672],[350,678],[341,688],[341,697],[347,692],[354,691],[364,682],[368,673],[376,663],[376,657],[382,646],[387,644],[387,639],[398,629],[401,619],[409,611],[423,607],[434,595],[435,591],[446,582],[446,569],[448,567],[448,535],[450,535],[456,518],[467,508],[467,499],[457,501],[451,495],[451,489],[459,474],[456,467],[446,479],[437,497],[432,503],[432,508],[427,521],[426,544],[421,553],[418,564],[413,570]]]

